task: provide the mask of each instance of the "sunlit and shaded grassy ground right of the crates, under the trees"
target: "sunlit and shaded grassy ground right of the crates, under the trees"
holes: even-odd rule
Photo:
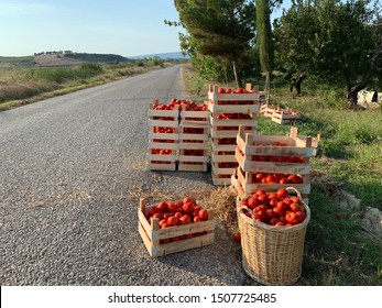
[[[209,80],[185,66],[184,81],[193,99],[205,99]],[[382,110],[352,111],[332,97],[330,90],[318,89],[296,97],[286,86],[274,85],[271,91],[273,103],[303,114],[295,123],[301,134],[323,138],[310,161],[312,220],[299,284],[381,285],[381,233],[370,231],[364,222],[368,207],[382,210]],[[284,134],[290,128],[259,118],[260,133]],[[380,223],[374,227],[381,230]]]

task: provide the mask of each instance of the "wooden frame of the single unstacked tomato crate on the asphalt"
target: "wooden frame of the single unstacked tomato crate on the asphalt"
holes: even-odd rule
[[[163,256],[171,253],[203,248],[214,243],[216,226],[214,210],[208,210],[208,220],[206,221],[193,222],[166,229],[160,229],[159,219],[151,218],[151,221],[148,221],[146,215],[149,210],[150,207],[146,206],[145,199],[140,199],[138,208],[138,230],[151,256]],[[176,242],[161,243],[161,240],[195,233],[203,233],[203,235]]]

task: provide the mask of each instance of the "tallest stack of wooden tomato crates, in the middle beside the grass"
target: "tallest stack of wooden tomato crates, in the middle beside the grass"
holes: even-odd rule
[[[209,86],[211,175],[215,185],[230,185],[231,175],[238,166],[234,152],[239,127],[242,125],[245,132],[255,130],[261,97],[252,90],[251,84],[239,92],[225,92],[218,86]]]

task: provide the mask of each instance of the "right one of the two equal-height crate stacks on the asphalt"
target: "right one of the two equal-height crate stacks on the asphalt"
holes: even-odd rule
[[[178,170],[207,172],[208,119],[207,108],[181,111]]]

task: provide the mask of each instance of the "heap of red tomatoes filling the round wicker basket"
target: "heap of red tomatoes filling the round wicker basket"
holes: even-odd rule
[[[285,188],[269,194],[259,189],[243,199],[240,207],[244,207],[242,211],[247,217],[275,227],[292,227],[306,219],[306,208],[303,201],[298,197],[290,195]]]

